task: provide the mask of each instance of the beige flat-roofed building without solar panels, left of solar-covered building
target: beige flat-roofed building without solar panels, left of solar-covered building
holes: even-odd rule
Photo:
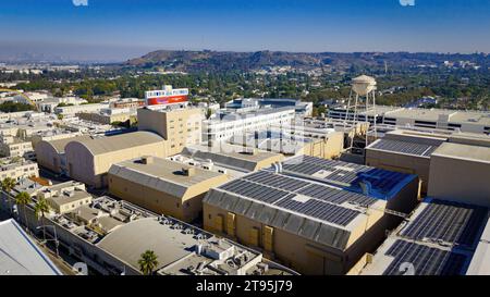
[[[143,157],[109,170],[109,190],[121,199],[160,214],[191,222],[203,212],[203,197],[228,181],[223,173]]]

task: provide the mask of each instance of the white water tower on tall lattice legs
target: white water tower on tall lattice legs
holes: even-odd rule
[[[376,133],[376,79],[371,76],[360,75],[352,79],[351,95],[345,111],[345,124],[354,127],[367,127],[365,139],[351,137],[347,150],[354,147],[367,146],[369,136],[377,137]],[[356,139],[355,139],[356,138]],[[363,144],[362,144],[363,143]]]

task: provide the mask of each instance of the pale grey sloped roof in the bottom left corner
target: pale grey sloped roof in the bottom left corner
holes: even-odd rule
[[[0,275],[62,275],[14,221],[0,222]]]

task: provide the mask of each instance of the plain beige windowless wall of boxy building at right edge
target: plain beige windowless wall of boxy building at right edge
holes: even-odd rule
[[[428,195],[490,207],[490,163],[432,154]]]

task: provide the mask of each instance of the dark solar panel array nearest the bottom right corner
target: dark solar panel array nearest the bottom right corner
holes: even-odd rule
[[[394,260],[384,270],[384,275],[402,275],[403,263],[411,263],[415,275],[460,275],[463,274],[467,257],[433,247],[397,239],[385,255]]]

